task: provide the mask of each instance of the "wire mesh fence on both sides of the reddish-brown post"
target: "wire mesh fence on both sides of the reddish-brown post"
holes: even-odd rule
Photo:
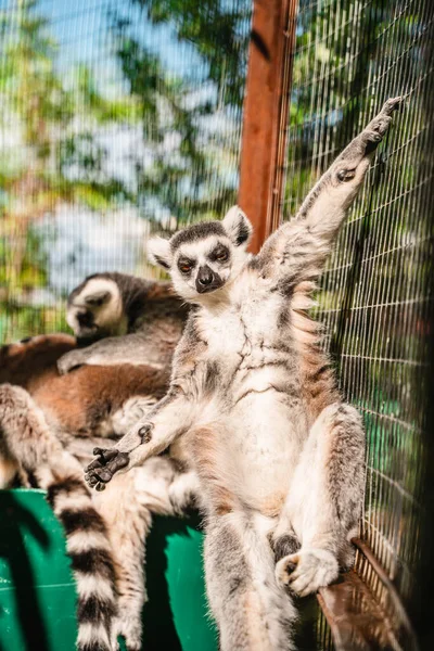
[[[432,335],[434,7],[298,4],[283,218],[388,97],[406,97],[317,316],[342,392],[365,416],[361,535],[409,603]],[[0,343],[64,330],[63,301],[86,275],[149,276],[152,230],[234,202],[251,13],[248,0],[0,0]],[[321,620],[318,648],[330,643]]]

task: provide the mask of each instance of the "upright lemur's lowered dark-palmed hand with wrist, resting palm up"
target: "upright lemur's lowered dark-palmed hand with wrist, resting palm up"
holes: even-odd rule
[[[105,484],[107,484],[117,472],[127,472],[129,468],[133,465],[130,452],[140,445],[150,442],[152,426],[152,423],[143,423],[137,432],[132,430],[131,435],[127,434],[124,436],[122,439],[123,447],[127,449],[94,448],[93,454],[97,456],[97,459],[89,463],[85,469],[85,480],[89,486],[97,490],[104,490]]]

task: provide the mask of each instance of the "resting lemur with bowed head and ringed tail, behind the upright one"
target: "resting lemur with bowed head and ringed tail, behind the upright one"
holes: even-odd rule
[[[92,497],[82,476],[94,446],[128,431],[131,420],[124,417],[137,418],[138,396],[142,409],[164,395],[184,316],[169,283],[102,273],[74,290],[67,318],[80,345],[111,335],[104,340],[111,355],[100,362],[114,363],[120,350],[125,363],[82,366],[60,375],[59,358],[76,345],[62,334],[0,349],[0,383],[8,383],[0,386],[0,485],[11,485],[18,473],[25,485],[48,490],[77,580],[80,651],[116,648],[117,634],[128,650],[140,649],[144,540],[152,514],[176,514],[191,499],[190,475],[167,457],[119,477],[112,497]],[[98,344],[73,349],[61,366],[85,359],[92,365],[95,355],[101,356]]]

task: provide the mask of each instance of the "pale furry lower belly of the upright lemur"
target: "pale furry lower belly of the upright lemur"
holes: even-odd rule
[[[252,392],[227,418],[226,475],[243,502],[267,515],[280,512],[306,436],[301,406],[273,388]]]

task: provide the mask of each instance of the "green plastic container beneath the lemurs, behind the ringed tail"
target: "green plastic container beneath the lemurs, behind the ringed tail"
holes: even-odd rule
[[[75,584],[43,492],[0,490],[0,651],[74,651]],[[217,650],[202,545],[196,521],[155,519],[146,549],[146,651]]]

